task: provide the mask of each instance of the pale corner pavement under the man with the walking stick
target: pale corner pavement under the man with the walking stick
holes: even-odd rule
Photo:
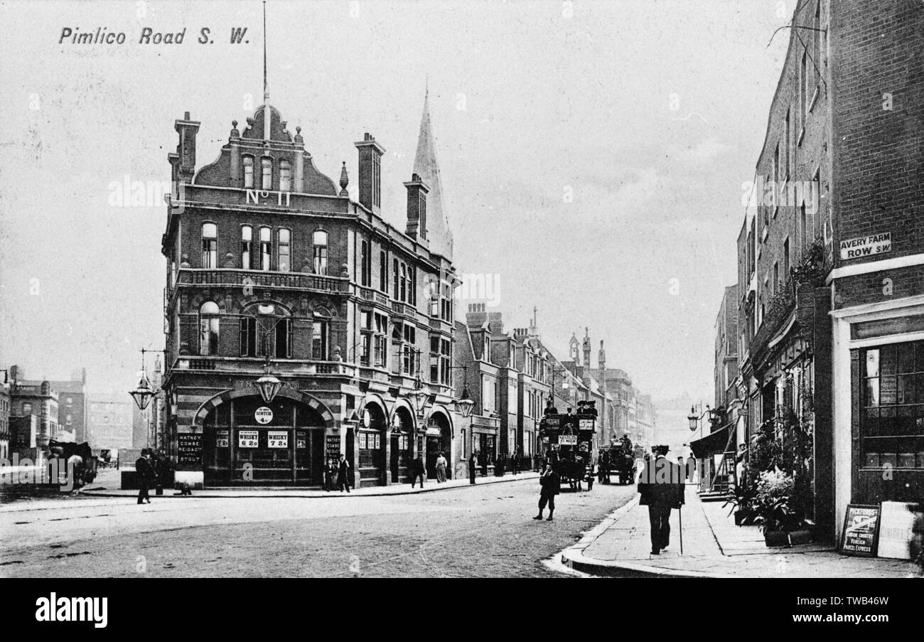
[[[678,511],[671,545],[651,555],[648,507],[638,494],[573,546],[562,563],[590,575],[615,577],[920,577],[914,563],[841,555],[830,545],[768,548],[760,528],[736,527],[723,502],[701,502],[687,489],[680,552]]]

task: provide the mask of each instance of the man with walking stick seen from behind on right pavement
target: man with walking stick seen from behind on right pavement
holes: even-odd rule
[[[667,446],[654,446],[655,456],[645,464],[638,478],[638,503],[648,506],[651,525],[651,554],[657,555],[671,542],[671,509],[684,503],[684,471],[667,459]]]

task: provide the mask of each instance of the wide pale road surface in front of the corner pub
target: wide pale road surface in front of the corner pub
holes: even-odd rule
[[[418,495],[75,498],[0,506],[4,577],[537,577],[634,486],[563,491],[536,521],[535,479]]]

